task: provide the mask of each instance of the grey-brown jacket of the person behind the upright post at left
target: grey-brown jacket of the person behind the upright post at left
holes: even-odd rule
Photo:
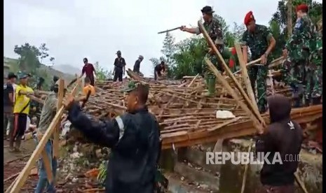
[[[44,101],[44,105],[41,111],[41,117],[39,122],[38,131],[41,134],[44,134],[50,123],[52,122],[53,118],[55,117],[55,113],[57,111],[57,94],[55,92],[51,92],[46,97]]]

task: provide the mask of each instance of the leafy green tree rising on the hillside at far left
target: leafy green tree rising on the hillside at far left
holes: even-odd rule
[[[13,51],[20,56],[18,59],[18,65],[22,71],[35,73],[36,69],[41,66],[41,63],[39,62],[41,52],[34,45],[29,45],[29,43],[20,46],[15,45]]]

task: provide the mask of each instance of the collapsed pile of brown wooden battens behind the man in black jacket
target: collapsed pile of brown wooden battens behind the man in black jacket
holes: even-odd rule
[[[188,76],[183,80],[154,81],[137,76],[130,71],[128,75],[133,80],[149,85],[148,107],[162,126],[161,134],[210,129],[228,120],[228,118],[217,118],[217,110],[227,110],[235,117],[242,117],[238,121],[247,120],[236,100],[226,93],[222,85],[217,83],[215,96],[203,96],[205,80],[200,76],[196,78]],[[243,83],[240,76],[236,78],[239,83]],[[235,87],[230,78],[227,80],[231,87]],[[114,117],[124,113],[125,96],[121,89],[128,84],[128,81],[124,81],[120,86],[116,84],[112,81],[97,83],[97,92],[95,96],[90,96],[84,110],[95,117],[107,115]],[[274,86],[274,89],[278,93],[290,94],[288,88]]]

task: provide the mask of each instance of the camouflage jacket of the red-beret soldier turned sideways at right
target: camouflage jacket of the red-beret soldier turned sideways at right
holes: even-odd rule
[[[299,61],[308,58],[308,51],[316,47],[315,26],[308,15],[298,18],[292,36],[285,44],[290,60]]]

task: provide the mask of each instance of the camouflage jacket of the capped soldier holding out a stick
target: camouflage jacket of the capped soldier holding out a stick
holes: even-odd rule
[[[217,20],[216,18],[212,18],[212,20],[210,22],[204,22],[203,26],[205,27],[208,35],[210,36],[210,38],[212,39],[212,41],[215,43],[215,45],[218,45],[218,49],[221,52],[222,48],[224,47],[224,41],[223,41],[223,33],[222,33],[222,25],[219,22],[219,20]],[[201,34],[202,31],[197,30],[197,35]]]

